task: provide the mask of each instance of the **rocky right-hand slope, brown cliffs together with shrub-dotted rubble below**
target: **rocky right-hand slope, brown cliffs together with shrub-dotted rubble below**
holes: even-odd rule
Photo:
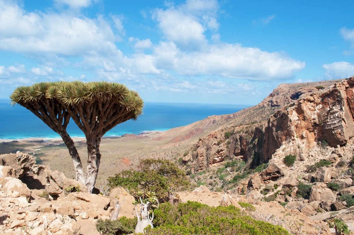
[[[298,96],[267,122],[211,132],[184,156],[184,164],[196,174],[191,174],[195,184],[205,183],[212,190],[230,188],[234,195],[252,192],[257,200],[286,204],[285,208],[307,216],[332,211],[314,219],[330,221],[347,210],[343,218],[353,230],[354,217],[346,209],[354,205],[353,89],[354,77]],[[261,104],[280,105],[274,97],[271,94],[273,99]],[[290,155],[295,162],[286,165],[285,157]],[[261,164],[264,170],[257,167]],[[304,188],[306,195],[301,194]]]

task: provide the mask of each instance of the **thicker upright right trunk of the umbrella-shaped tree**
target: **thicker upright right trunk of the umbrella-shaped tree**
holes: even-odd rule
[[[87,191],[92,193],[93,187],[95,186],[98,166],[101,160],[100,154],[97,156],[97,149],[95,138],[90,140],[87,138],[87,169],[86,169],[86,179],[85,184]]]

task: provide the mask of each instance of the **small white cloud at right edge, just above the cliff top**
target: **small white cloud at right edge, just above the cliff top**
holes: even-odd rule
[[[331,79],[350,78],[354,76],[354,64],[348,62],[334,62],[324,64],[322,68],[326,70],[325,75]]]

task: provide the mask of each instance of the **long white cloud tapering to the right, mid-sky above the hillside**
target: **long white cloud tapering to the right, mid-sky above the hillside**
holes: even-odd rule
[[[154,55],[160,69],[173,68],[184,75],[210,74],[258,81],[289,79],[305,67],[304,62],[281,53],[239,44],[210,45],[204,52],[183,53],[173,43],[160,43]]]

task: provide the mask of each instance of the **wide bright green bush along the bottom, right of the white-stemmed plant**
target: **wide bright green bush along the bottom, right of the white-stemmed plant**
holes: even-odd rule
[[[190,201],[177,206],[166,203],[154,214],[154,228],[148,228],[145,235],[289,234],[280,226],[242,216],[234,206],[210,207]]]

